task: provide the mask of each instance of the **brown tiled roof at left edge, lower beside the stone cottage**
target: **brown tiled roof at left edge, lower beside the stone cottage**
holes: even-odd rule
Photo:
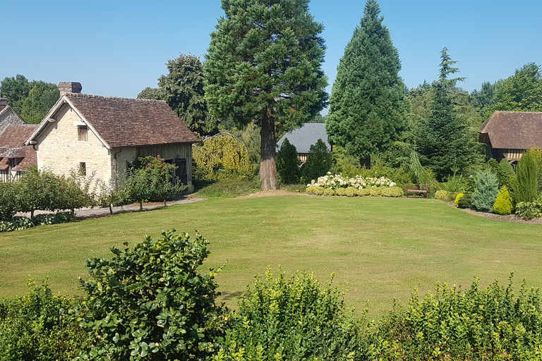
[[[25,141],[34,133],[37,124],[12,124],[0,134],[0,164],[5,164],[8,158],[23,158],[15,169],[26,169],[37,164],[34,147],[25,145]],[[0,169],[2,167],[0,166]]]

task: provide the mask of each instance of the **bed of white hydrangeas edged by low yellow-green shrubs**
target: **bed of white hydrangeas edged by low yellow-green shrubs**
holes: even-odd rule
[[[375,178],[356,176],[343,178],[341,174],[318,177],[307,185],[307,193],[313,195],[344,195],[347,197],[373,195],[383,197],[402,197],[402,188],[396,187],[395,182],[385,177]]]

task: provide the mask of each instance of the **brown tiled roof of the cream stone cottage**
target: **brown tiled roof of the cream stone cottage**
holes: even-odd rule
[[[109,147],[200,142],[162,100],[80,93],[67,93],[66,98]]]

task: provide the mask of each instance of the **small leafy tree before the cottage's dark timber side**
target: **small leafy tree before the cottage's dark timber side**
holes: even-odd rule
[[[124,183],[126,197],[138,202],[140,210],[143,210],[143,202],[160,200],[165,204],[167,198],[179,195],[186,189],[186,185],[173,183],[176,168],[160,156],[136,159]]]

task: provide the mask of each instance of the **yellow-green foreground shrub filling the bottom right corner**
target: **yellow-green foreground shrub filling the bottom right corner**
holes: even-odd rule
[[[519,294],[495,281],[469,290],[438,286],[380,326],[375,353],[383,360],[539,360],[542,314],[537,288]],[[378,346],[377,346],[378,345]]]

